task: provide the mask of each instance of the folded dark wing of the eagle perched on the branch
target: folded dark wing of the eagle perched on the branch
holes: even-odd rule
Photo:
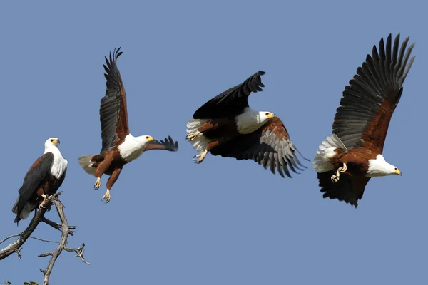
[[[15,222],[19,222],[19,216],[26,202],[29,202],[31,196],[34,195],[38,189],[41,181],[44,180],[44,177],[49,173],[53,162],[54,154],[52,154],[52,152],[47,152],[31,165],[24,177],[21,188],[18,190],[18,199],[16,199],[15,205],[12,208],[12,212],[16,214]]]

